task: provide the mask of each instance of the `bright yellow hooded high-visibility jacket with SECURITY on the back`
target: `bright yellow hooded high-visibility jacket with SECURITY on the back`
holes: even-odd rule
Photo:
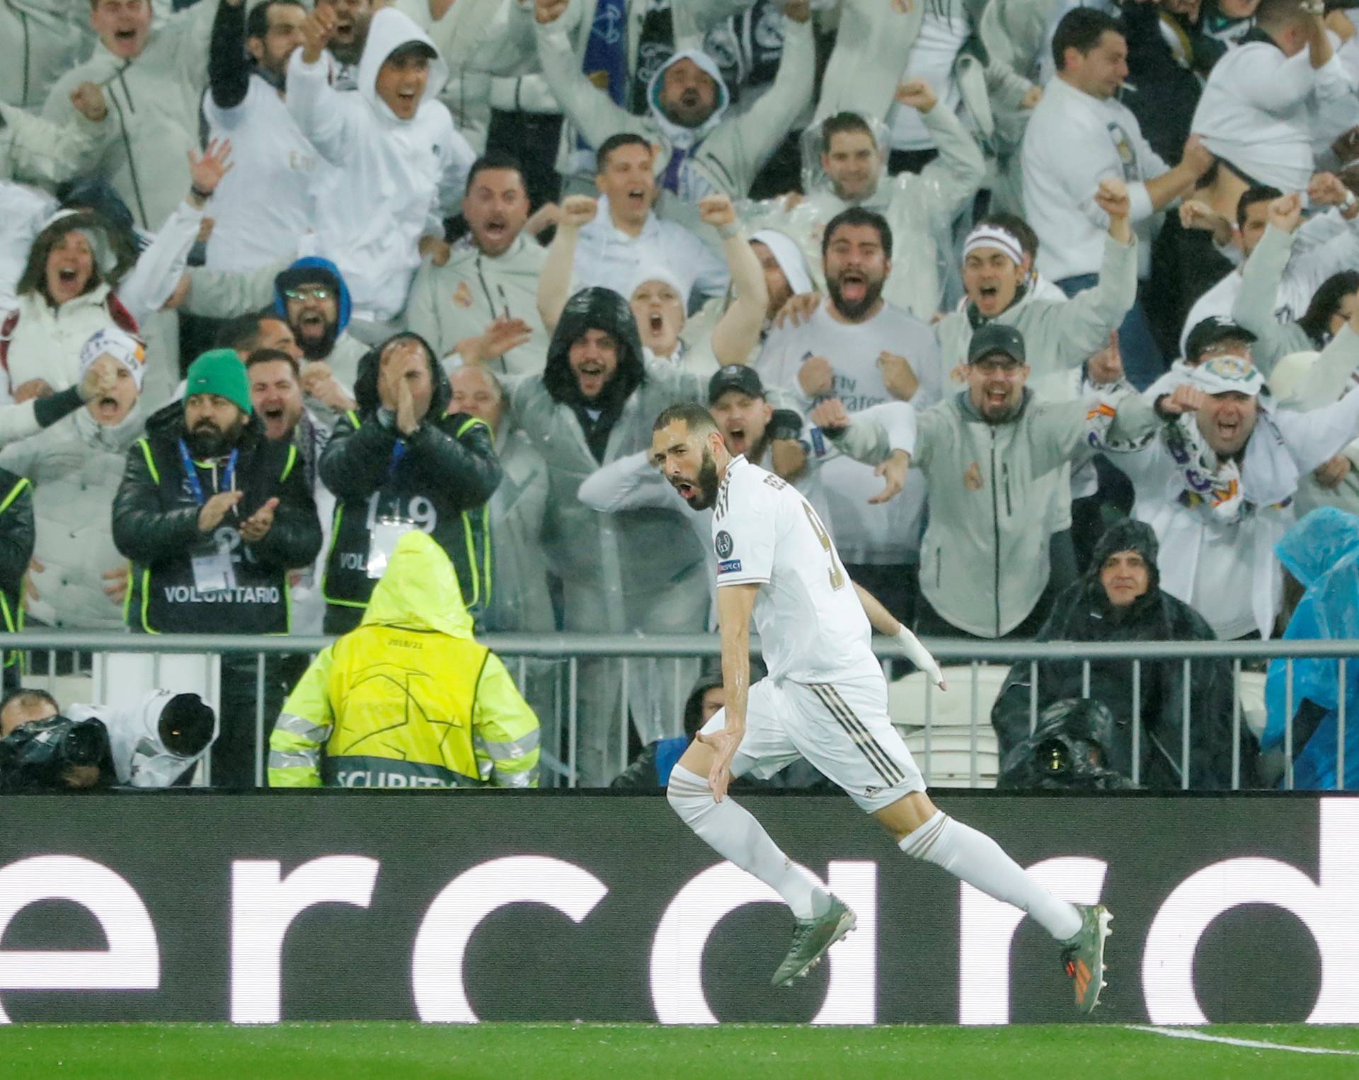
[[[317,656],[269,738],[270,787],[322,782],[538,784],[538,717],[473,638],[453,564],[424,533],[400,539],[363,622]]]

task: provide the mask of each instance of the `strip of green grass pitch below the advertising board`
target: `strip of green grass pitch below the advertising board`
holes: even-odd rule
[[[1359,1028],[1223,1024],[1212,1035],[1359,1051]],[[1359,1057],[1169,1039],[1117,1026],[29,1024],[0,1028],[26,1077],[1336,1077]]]

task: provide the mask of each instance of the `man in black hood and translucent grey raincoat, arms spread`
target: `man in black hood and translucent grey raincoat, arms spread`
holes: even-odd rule
[[[605,288],[582,289],[561,312],[542,375],[504,380],[508,418],[548,463],[548,561],[561,580],[564,628],[582,633],[697,633],[708,614],[703,550],[674,512],[598,514],[579,499],[601,465],[650,446],[651,421],[675,401],[699,399],[707,379],[643,359],[628,302]],[[680,715],[675,679],[631,668],[629,705],[644,743]],[[686,685],[697,671],[681,666]],[[626,765],[610,761],[621,667],[580,664],[578,782],[602,787]],[[658,685],[663,683],[663,685]]]

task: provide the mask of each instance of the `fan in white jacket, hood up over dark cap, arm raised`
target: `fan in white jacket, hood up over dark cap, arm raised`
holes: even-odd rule
[[[314,189],[314,232],[299,254],[340,268],[356,318],[387,321],[406,306],[421,243],[443,245],[443,215],[458,206],[476,155],[436,101],[448,68],[428,34],[400,11],[379,11],[359,90],[342,94],[323,56],[333,24],[332,8],[313,11],[288,61],[288,111],[336,167]]]

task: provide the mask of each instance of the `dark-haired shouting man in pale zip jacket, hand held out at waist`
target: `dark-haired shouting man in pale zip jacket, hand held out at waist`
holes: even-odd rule
[[[519,162],[492,151],[472,166],[462,198],[467,235],[440,265],[427,258],[406,303],[406,327],[438,356],[493,361],[510,375],[542,371],[548,331],[538,276],[548,255],[525,232],[529,192]]]

